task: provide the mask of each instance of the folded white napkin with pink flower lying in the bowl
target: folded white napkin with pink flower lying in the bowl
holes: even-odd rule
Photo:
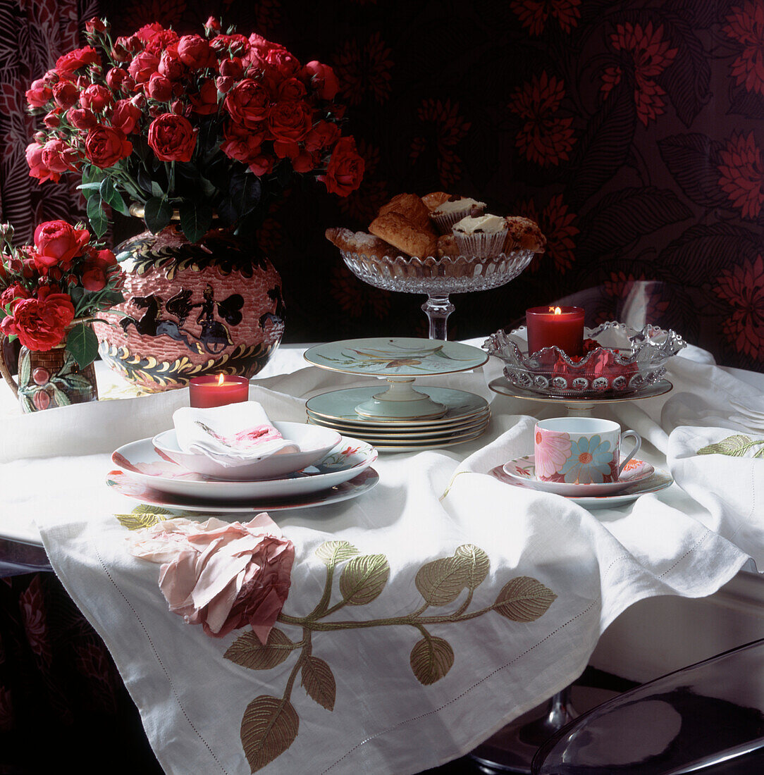
[[[209,409],[184,406],[175,410],[172,420],[184,452],[202,453],[226,467],[299,452],[296,443],[275,429],[257,401]]]

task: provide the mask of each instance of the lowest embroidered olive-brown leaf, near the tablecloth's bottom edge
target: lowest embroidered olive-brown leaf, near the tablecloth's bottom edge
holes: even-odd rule
[[[295,742],[299,717],[289,700],[261,695],[241,719],[241,745],[252,772],[261,770]]]

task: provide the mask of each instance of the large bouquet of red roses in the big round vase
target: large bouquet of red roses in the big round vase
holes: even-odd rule
[[[143,207],[152,232],[174,211],[187,239],[201,239],[213,212],[223,226],[259,226],[268,201],[293,174],[328,191],[358,188],[364,161],[342,136],[344,106],[334,72],[305,65],[256,33],[178,36],[154,23],[112,40],[109,24],[86,24],[90,45],[59,57],[26,99],[44,128],[26,149],[29,174],[82,176],[88,219],[99,236],[104,205]]]

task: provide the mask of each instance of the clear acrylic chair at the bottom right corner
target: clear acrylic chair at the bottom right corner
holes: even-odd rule
[[[538,749],[534,775],[764,773],[764,639],[584,713]]]

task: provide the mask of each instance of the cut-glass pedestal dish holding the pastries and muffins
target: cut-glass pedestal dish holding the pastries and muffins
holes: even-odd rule
[[[366,256],[341,250],[348,269],[360,280],[385,291],[427,294],[422,305],[430,322],[430,339],[448,339],[449,296],[499,288],[519,275],[534,257],[532,250],[513,250],[495,258],[432,256]]]

